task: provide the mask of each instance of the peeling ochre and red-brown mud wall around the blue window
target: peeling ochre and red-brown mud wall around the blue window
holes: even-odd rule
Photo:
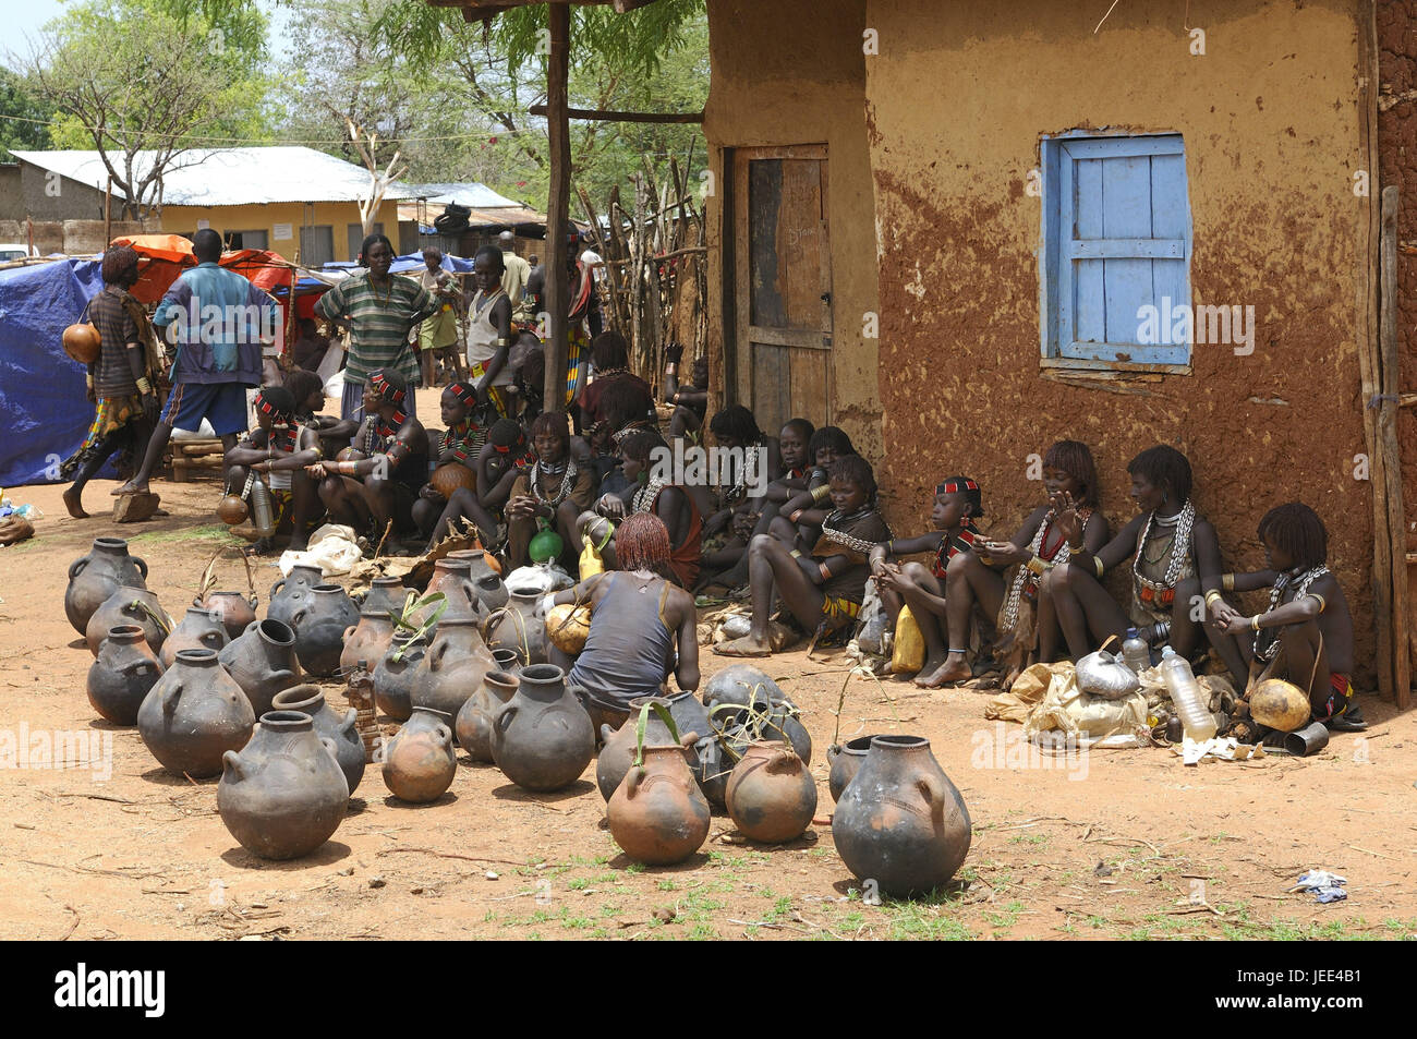
[[[1093,447],[1115,527],[1134,515],[1127,461],[1172,444],[1230,566],[1261,563],[1255,524],[1272,505],[1319,512],[1367,663],[1357,4],[1192,3],[1204,55],[1190,54],[1178,4],[1119,4],[1094,34],[1102,10],[867,3],[881,51],[866,69],[888,515],[897,530],[921,527],[931,485],[964,471],[1009,536],[1041,499],[1029,455],[1067,437]],[[1197,344],[1189,376],[1043,378],[1041,200],[1027,176],[1040,135],[1102,126],[1185,135],[1193,301],[1253,305],[1251,356]]]

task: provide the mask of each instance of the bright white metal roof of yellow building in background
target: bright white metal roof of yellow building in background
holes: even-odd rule
[[[14,156],[99,191],[108,186],[108,170],[98,152],[14,152]],[[150,167],[152,156],[152,152],[139,152],[137,169]],[[177,169],[163,177],[164,206],[361,201],[367,197],[368,170],[313,147],[194,149],[177,156]],[[395,181],[384,197],[393,201],[414,196],[407,184]]]

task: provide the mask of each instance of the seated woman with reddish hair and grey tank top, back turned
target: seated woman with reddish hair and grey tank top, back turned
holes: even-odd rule
[[[591,634],[565,685],[595,709],[629,710],[639,696],[660,696],[670,675],[699,689],[699,617],[694,598],[659,575],[669,566],[669,532],[638,512],[615,532],[618,570],[555,594],[555,602],[591,604]],[[599,720],[599,719],[597,719]]]

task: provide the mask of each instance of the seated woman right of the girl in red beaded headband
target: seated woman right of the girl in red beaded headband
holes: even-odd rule
[[[1058,441],[1043,455],[1043,489],[1049,502],[1054,495],[1067,493],[1078,505],[1077,515],[1083,522],[1083,543],[1088,551],[1097,553],[1111,537],[1107,517],[1098,512],[1097,466],[1093,452],[1080,441]],[[1006,656],[1009,672],[1005,687],[1029,663],[1037,645],[1037,629],[1049,627],[1051,638],[1057,638],[1057,618],[1051,602],[1046,615],[1036,619],[1039,588],[1049,580],[1049,571],[1058,563],[1067,563],[1070,549],[1067,539],[1053,522],[1053,506],[1044,502],[1023,522],[1017,533],[1007,541],[978,540],[973,551],[959,553],[949,560],[945,578],[945,600],[949,605],[945,615],[949,621],[949,658],[941,669],[930,676],[928,685],[942,685],[969,678],[964,649],[969,639],[969,617],[978,604],[986,617],[999,618],[999,638],[995,644],[995,658]],[[1013,583],[1005,594],[1003,571],[1017,567]],[[1003,612],[1000,615],[1000,605]],[[1015,645],[1017,639],[1026,645]]]

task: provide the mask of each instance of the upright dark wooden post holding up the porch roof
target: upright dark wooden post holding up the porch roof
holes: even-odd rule
[[[546,309],[550,315],[546,342],[543,401],[547,411],[561,411],[565,401],[567,313],[571,278],[565,265],[565,225],[571,208],[571,120],[567,91],[571,75],[571,7],[547,4],[551,52],[546,65],[547,137],[551,189],[546,204]]]

